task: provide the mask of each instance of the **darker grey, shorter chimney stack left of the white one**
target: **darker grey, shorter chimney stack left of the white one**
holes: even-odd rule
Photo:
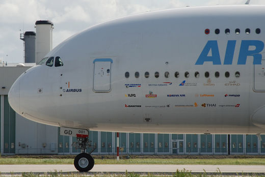
[[[20,39],[24,41],[25,63],[35,63],[36,58],[36,33],[25,32],[20,35]]]

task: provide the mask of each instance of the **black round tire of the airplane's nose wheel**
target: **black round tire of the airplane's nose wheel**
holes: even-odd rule
[[[89,171],[93,168],[95,161],[93,157],[87,153],[78,154],[74,158],[74,167],[78,171]]]

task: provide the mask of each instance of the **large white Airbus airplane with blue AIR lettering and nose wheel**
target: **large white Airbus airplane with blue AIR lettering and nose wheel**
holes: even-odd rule
[[[76,136],[79,171],[94,166],[88,130],[259,136],[264,17],[262,5],[185,7],[94,25],[19,76],[9,103]]]

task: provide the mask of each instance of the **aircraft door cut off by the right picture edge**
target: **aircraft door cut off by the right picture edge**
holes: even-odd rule
[[[254,65],[254,89],[255,92],[265,92],[265,60],[261,65]]]

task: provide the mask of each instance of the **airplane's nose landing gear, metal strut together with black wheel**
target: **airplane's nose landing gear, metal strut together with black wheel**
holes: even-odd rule
[[[74,167],[78,171],[89,171],[95,164],[94,159],[90,154],[96,149],[96,146],[91,145],[91,141],[89,141],[88,136],[81,136],[76,139],[77,142],[74,142],[72,146],[76,149],[81,149],[81,154],[78,154],[74,158]],[[89,153],[86,153],[87,147],[92,149]]]

